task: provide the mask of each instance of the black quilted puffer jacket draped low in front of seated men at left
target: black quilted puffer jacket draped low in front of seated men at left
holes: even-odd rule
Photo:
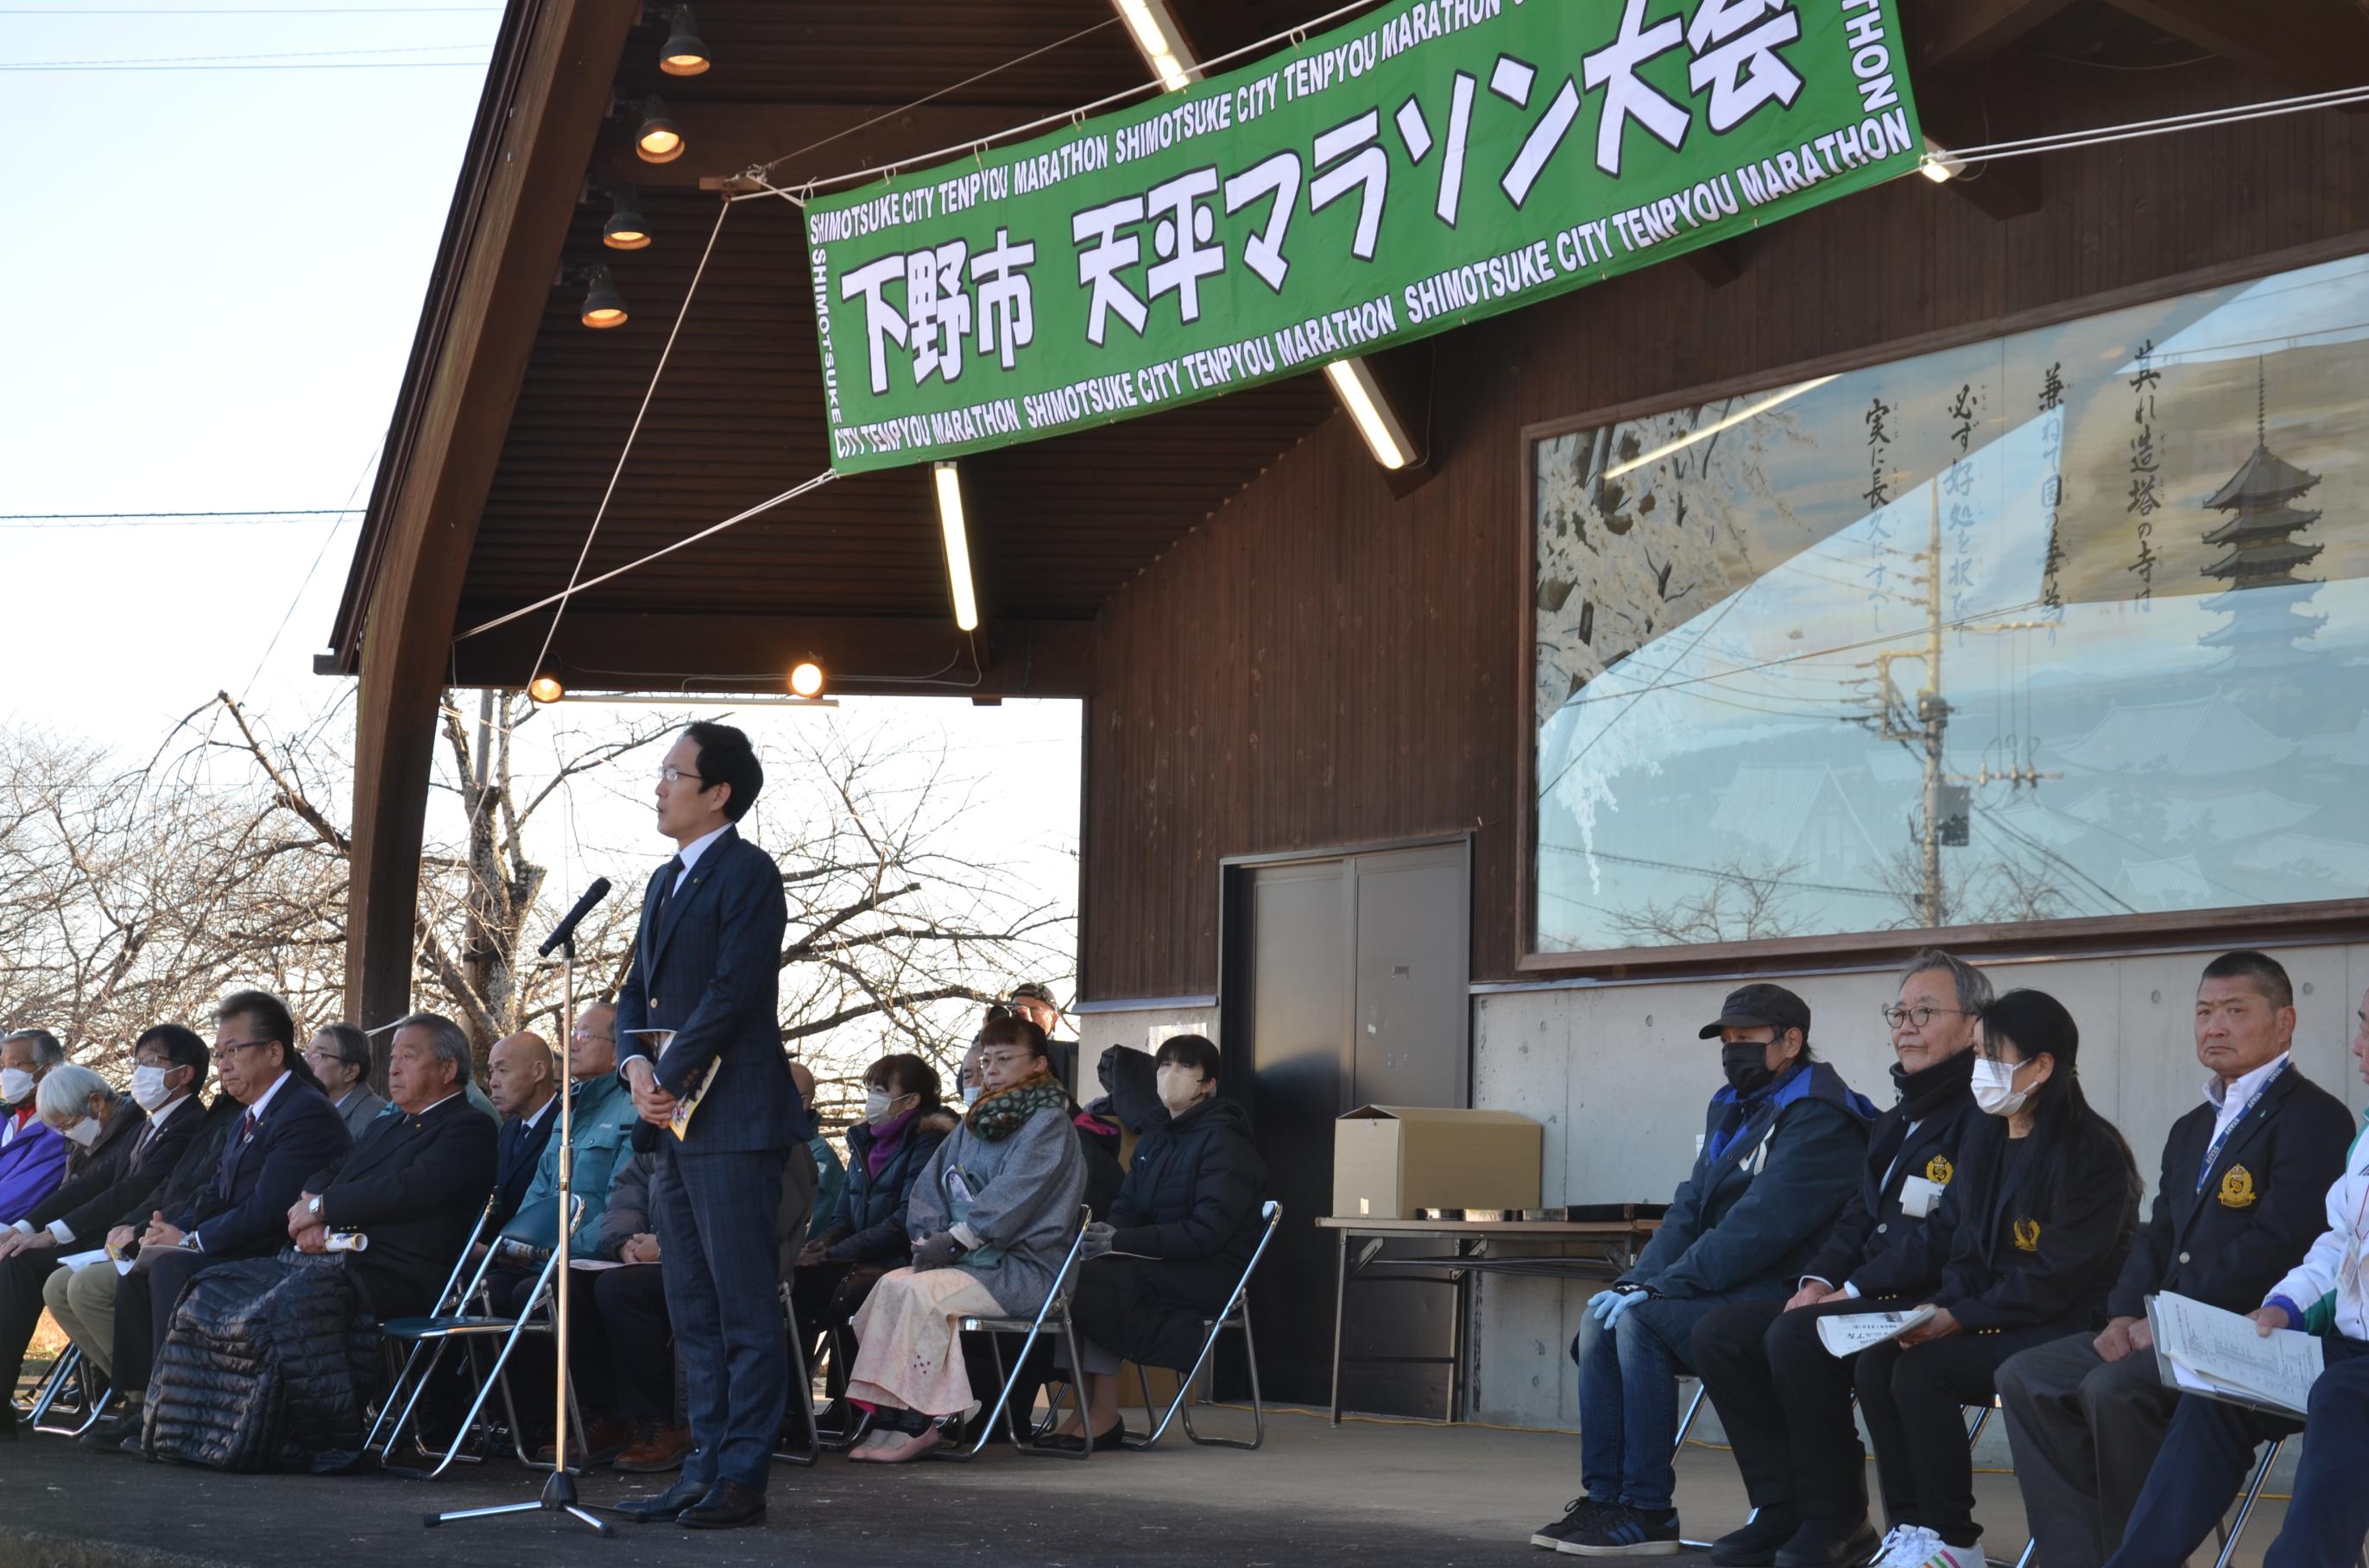
[[[147,1393],[147,1452],[216,1471],[303,1471],[362,1442],[377,1334],[341,1258],[249,1258],[173,1307]]]

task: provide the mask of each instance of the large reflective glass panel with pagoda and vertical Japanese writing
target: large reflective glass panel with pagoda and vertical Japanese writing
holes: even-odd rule
[[[2369,258],[1533,448],[1540,952],[2369,895]]]

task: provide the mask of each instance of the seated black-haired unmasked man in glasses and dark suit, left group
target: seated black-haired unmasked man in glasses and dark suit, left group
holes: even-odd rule
[[[116,1390],[147,1388],[190,1277],[208,1262],[280,1251],[306,1177],[353,1149],[344,1118],[296,1054],[296,1021],[280,997],[242,990],[225,1000],[216,1011],[213,1063],[223,1092],[244,1111],[206,1187],[173,1213],[159,1206],[140,1232],[140,1265],[116,1286]],[[116,1447],[137,1452],[137,1402],[83,1440],[104,1447],[104,1431],[118,1433]]]

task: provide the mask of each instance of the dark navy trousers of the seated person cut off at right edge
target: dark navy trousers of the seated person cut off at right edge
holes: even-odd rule
[[[2369,1343],[2331,1334],[2319,1348],[2326,1371],[2312,1383],[2305,1407],[2296,1499],[2286,1506],[2279,1540],[2262,1554],[2262,1568],[2350,1563],[2369,1532],[2369,1487],[2360,1483],[2362,1454],[2369,1452]],[[2184,1563],[2246,1485],[2255,1445],[2293,1433],[2291,1419],[2182,1397],[2130,1514],[2123,1549],[2106,1568]]]

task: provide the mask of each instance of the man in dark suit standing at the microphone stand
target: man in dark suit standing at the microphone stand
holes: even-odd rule
[[[656,1130],[651,1210],[694,1438],[682,1478],[625,1514],[692,1528],[765,1518],[789,1402],[775,1225],[784,1158],[813,1125],[777,1021],[782,869],[732,827],[763,784],[749,737],[730,725],[692,725],[666,753],[659,831],[678,848],[649,879],[616,1000],[618,1073]],[[651,1052],[637,1035],[649,1028],[673,1037]],[[675,1137],[675,1111],[694,1097]]]

